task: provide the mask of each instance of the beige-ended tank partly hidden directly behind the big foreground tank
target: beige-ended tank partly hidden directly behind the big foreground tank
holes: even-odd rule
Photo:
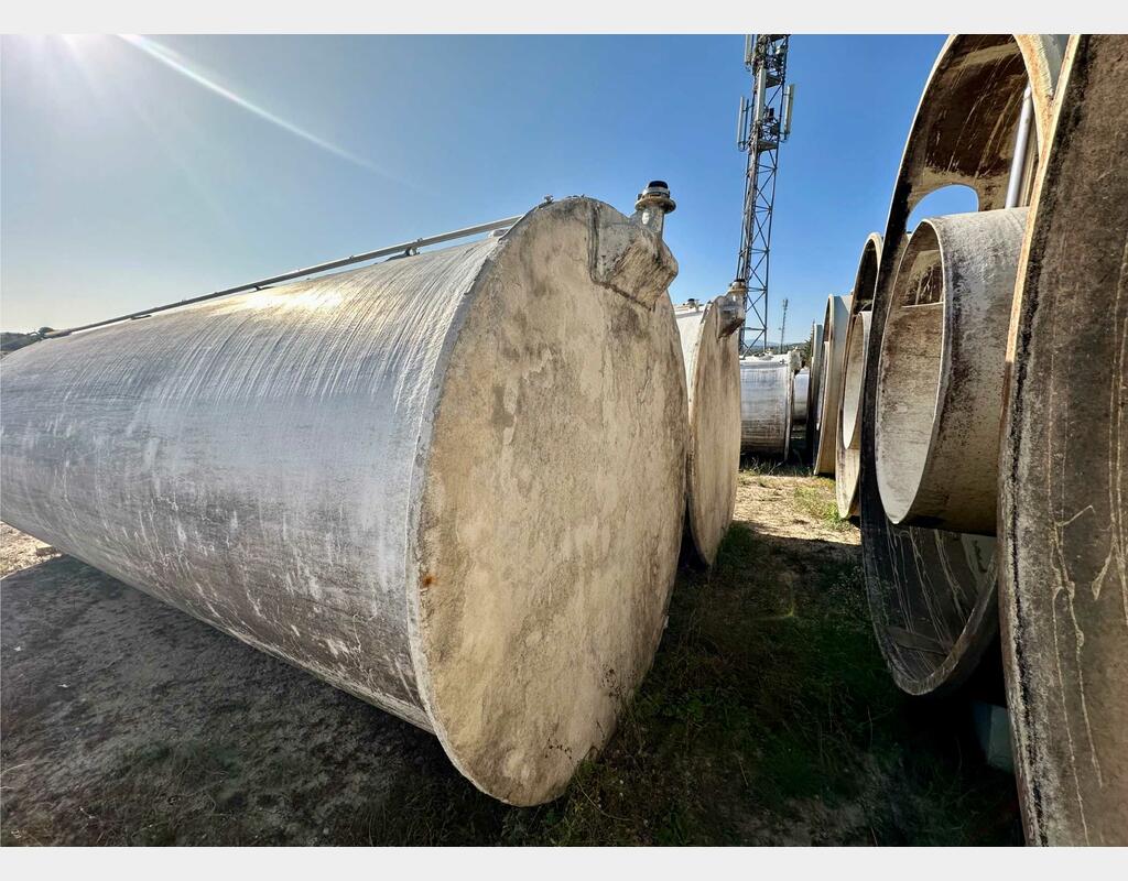
[[[740,351],[742,299],[717,297],[675,309],[689,391],[686,528],[694,553],[716,561],[737,503],[740,470]]]

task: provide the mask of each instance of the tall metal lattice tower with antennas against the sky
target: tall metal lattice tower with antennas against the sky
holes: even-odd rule
[[[752,100],[741,96],[737,147],[748,152],[744,171],[744,221],[733,289],[744,290],[748,319],[740,331],[740,351],[768,343],[768,255],[775,204],[779,144],[791,134],[795,87],[787,86],[790,34],[744,37],[744,67],[752,74]]]

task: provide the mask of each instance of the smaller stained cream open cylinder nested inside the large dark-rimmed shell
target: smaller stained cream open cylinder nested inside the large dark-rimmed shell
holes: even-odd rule
[[[995,535],[1003,367],[1026,209],[923,220],[893,279],[874,442],[890,522]],[[934,598],[935,607],[948,597]]]

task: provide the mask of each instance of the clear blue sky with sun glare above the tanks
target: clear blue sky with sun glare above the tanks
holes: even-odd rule
[[[770,338],[783,297],[794,340],[852,284],[942,43],[793,37]],[[0,326],[108,317],[520,213],[545,194],[629,211],[654,177],[678,202],[673,299],[715,296],[740,237],[742,45],[5,37]]]

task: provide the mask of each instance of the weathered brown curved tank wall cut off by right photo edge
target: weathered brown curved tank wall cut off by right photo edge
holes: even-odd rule
[[[1066,55],[1007,355],[999,613],[1026,840],[1128,845],[1128,37]]]

